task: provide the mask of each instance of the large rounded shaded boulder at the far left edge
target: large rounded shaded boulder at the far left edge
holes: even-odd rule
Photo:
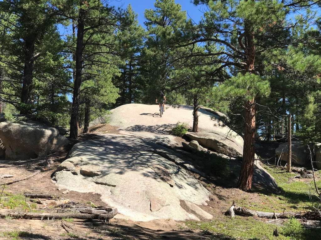
[[[0,123],[0,139],[6,159],[19,160],[47,156],[70,144],[56,128],[34,121]]]

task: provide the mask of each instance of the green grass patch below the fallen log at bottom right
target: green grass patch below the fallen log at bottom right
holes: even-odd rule
[[[291,220],[290,220],[291,221]],[[186,226],[190,229],[200,229],[203,231],[209,231],[213,235],[220,235],[226,238],[232,239],[269,239],[269,240],[320,240],[320,229],[303,229],[295,228],[294,231],[289,232],[291,228],[278,227],[280,236],[273,236],[273,230],[275,225],[267,224],[265,222],[256,220],[252,217],[238,217],[230,218],[224,217],[220,220],[213,220],[210,222],[195,222],[187,221]],[[290,222],[289,226],[297,226]],[[291,231],[291,230],[290,230]],[[283,235],[286,234],[286,235]],[[223,239],[223,238],[222,238]]]

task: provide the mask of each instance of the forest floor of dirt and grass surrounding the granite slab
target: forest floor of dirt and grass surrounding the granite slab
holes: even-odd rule
[[[105,127],[106,132],[115,129]],[[91,139],[92,135],[82,136],[81,140]],[[50,167],[39,167],[44,160],[33,159],[29,161],[7,162],[0,161],[0,175],[12,174],[9,180],[31,175],[41,170],[36,176],[4,186],[1,197],[1,211],[45,212],[42,204],[30,202],[23,193],[48,193],[56,199],[69,199],[83,205],[106,205],[101,202],[100,195],[91,193],[78,193],[58,189],[51,180],[56,167],[65,160],[67,152],[60,152],[46,157],[53,160]],[[65,219],[66,225],[72,227],[67,233],[61,226],[61,220],[25,220],[0,219],[0,239],[169,239],[169,240],[198,240],[198,239],[321,239],[321,228],[302,229],[291,220],[278,220],[267,223],[268,219],[253,217],[225,216],[233,200],[237,205],[248,209],[266,212],[303,212],[318,207],[317,199],[313,196],[314,186],[311,179],[293,178],[298,175],[286,173],[281,168],[265,165],[265,168],[277,180],[280,191],[277,193],[252,192],[245,193],[237,188],[226,188],[214,182],[199,178],[204,186],[211,192],[211,201],[202,208],[211,213],[214,218],[207,221],[153,220],[150,222],[133,222],[122,216],[113,218],[105,224],[99,221],[85,221]],[[318,185],[321,179],[318,175]],[[0,193],[3,189],[0,180]],[[30,205],[30,208],[28,206]],[[49,206],[50,207],[50,206]],[[51,207],[54,208],[54,207]],[[273,230],[278,227],[279,237],[273,236]],[[290,229],[290,231],[289,231]],[[292,229],[292,230],[291,230]]]

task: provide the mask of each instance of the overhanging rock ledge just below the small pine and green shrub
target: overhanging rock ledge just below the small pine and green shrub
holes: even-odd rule
[[[230,137],[215,132],[188,132],[185,134],[190,140],[196,140],[204,148],[230,157],[243,156],[243,139]]]

